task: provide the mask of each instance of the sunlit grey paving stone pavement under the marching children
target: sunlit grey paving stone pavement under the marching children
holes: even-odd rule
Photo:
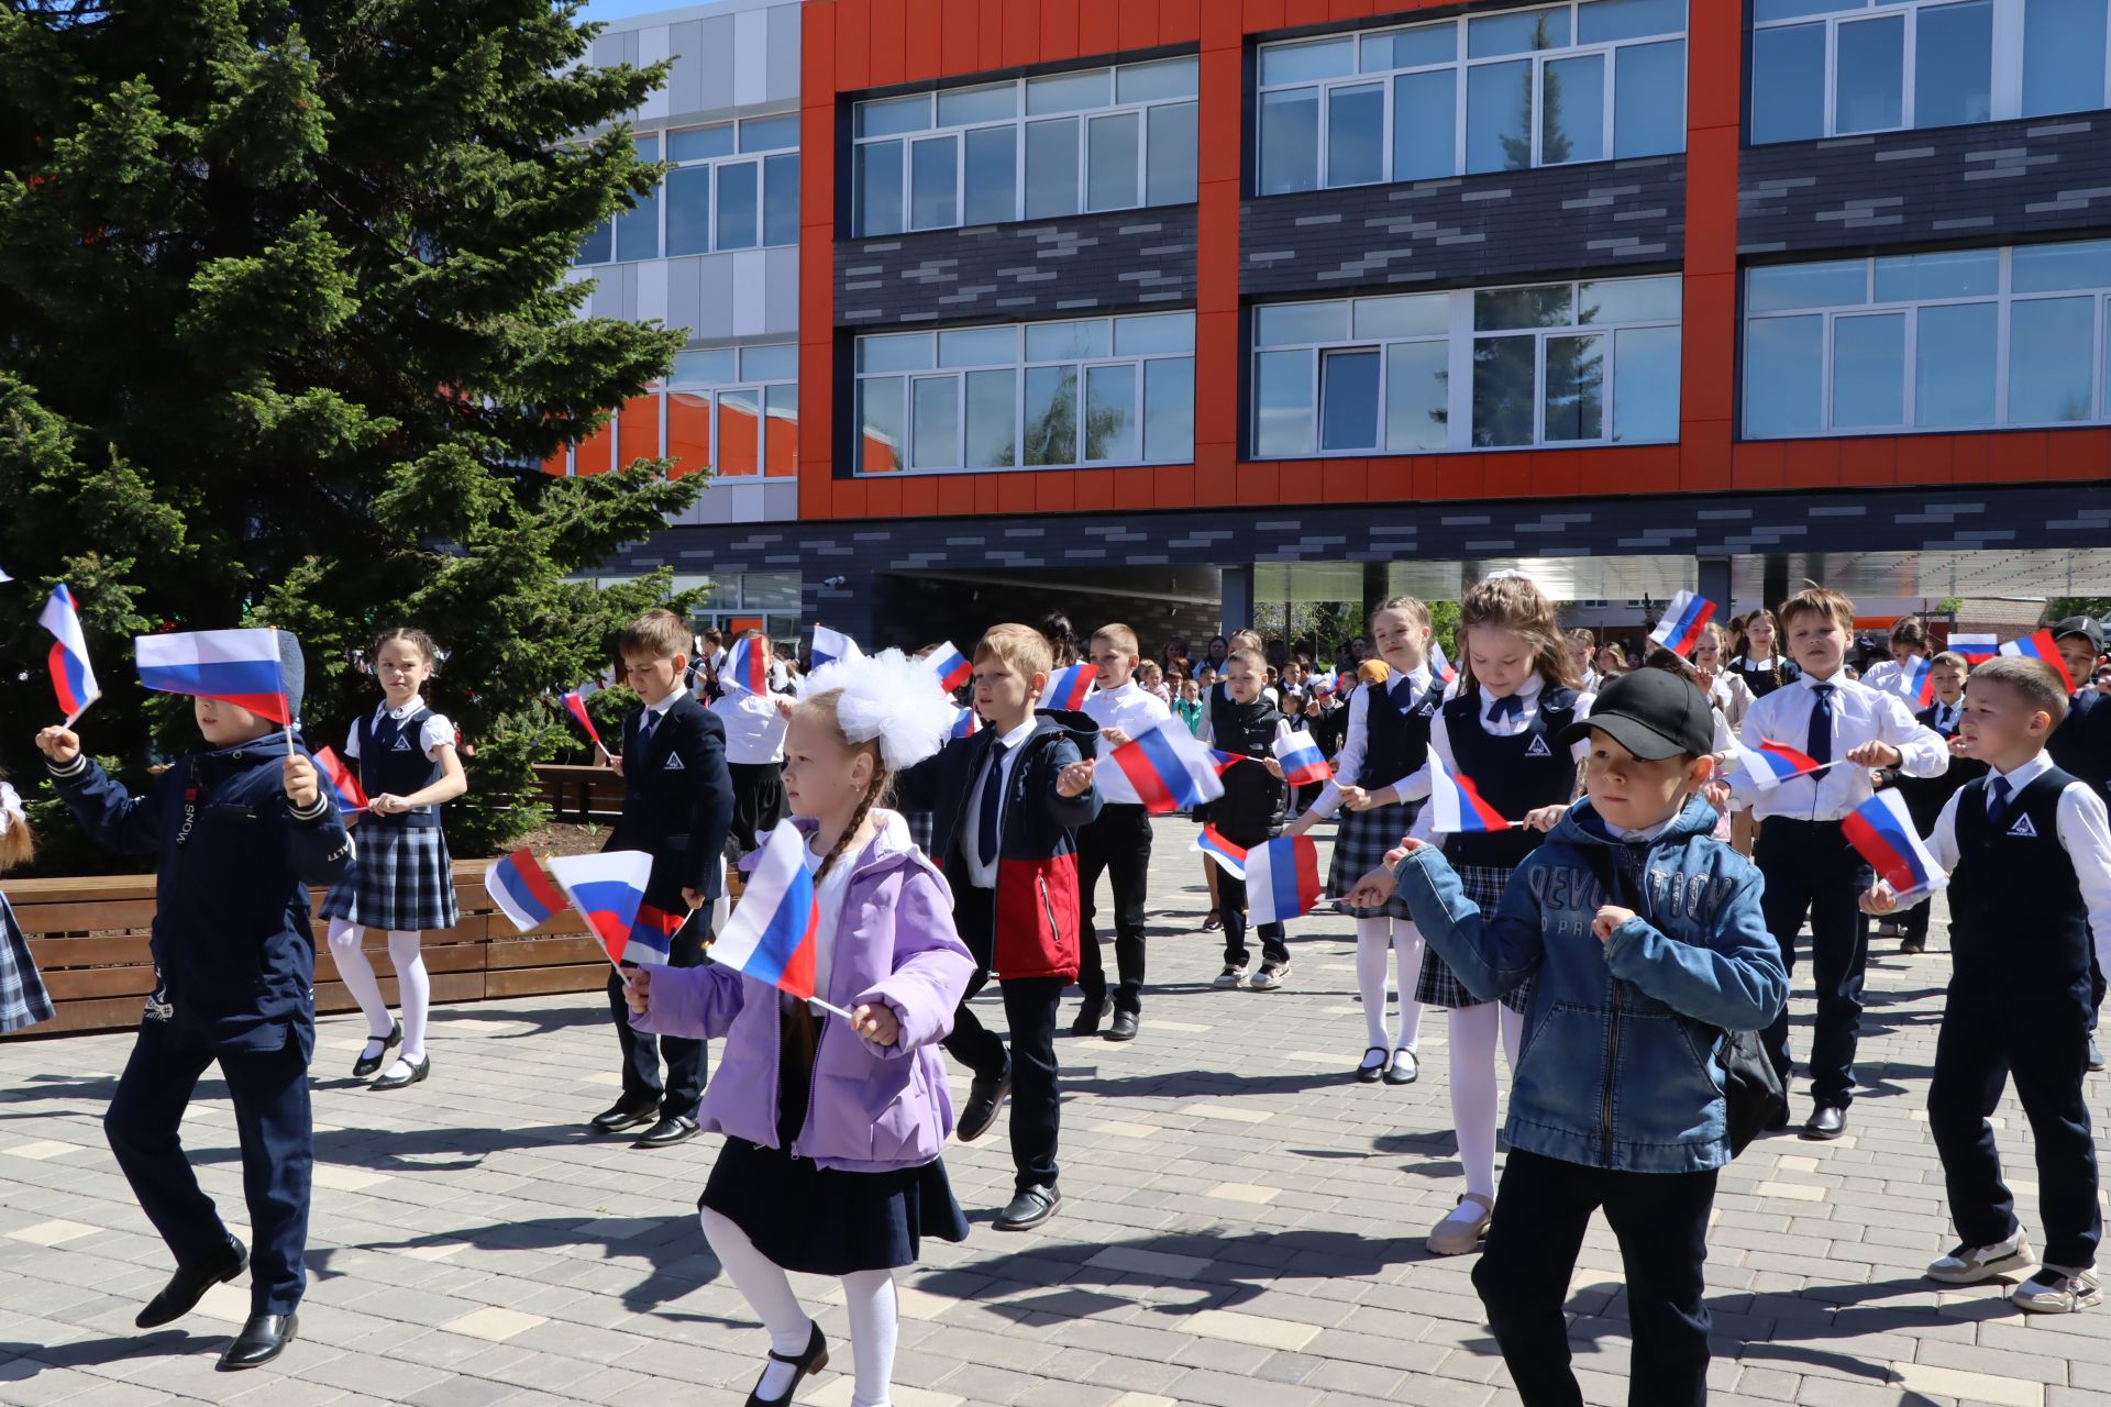
[[[895,1403],[1516,1403],[1471,1257],[1431,1259],[1421,1240],[1459,1192],[1444,1017],[1425,1021],[1419,1084],[1353,1084],[1364,1025],[1336,915],[1292,926],[1288,989],[1212,991],[1220,949],[1199,932],[1191,837],[1184,821],[1159,823],[1142,1038],[1060,1042],[1062,1215],[992,1232],[1011,1186],[1001,1131],[948,1148],[975,1232],[929,1245],[899,1276]],[[1849,1137],[1767,1139],[1723,1175],[1708,1264],[1718,1407],[2111,1407],[2111,1308],[2024,1318],[1993,1287],[1919,1276],[1951,1245],[1925,1124],[1946,975],[1940,922],[1921,958],[1879,939]],[[1807,987],[1796,1010],[1801,1051]],[[247,1375],[213,1371],[247,1280],[171,1329],[131,1325],[169,1272],[97,1129],[131,1036],[0,1046],[0,1401],[743,1401],[764,1339],[695,1221],[716,1141],[633,1152],[583,1131],[616,1086],[600,996],[441,1008],[433,1078],[401,1093],[346,1078],[361,1038],[359,1017],[321,1023],[302,1337]],[[2090,1082],[2098,1126],[2107,1091]],[[2014,1099],[1995,1122],[2037,1234]],[[201,1084],[186,1143],[239,1221],[217,1078]],[[840,1293],[800,1291],[849,1367]],[[1602,1221],[1568,1312],[1585,1401],[1625,1403],[1619,1253]],[[851,1377],[821,1373],[802,1401],[847,1407]]]

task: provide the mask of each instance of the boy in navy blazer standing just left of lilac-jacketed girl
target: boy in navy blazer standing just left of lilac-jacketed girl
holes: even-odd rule
[[[688,624],[667,610],[646,612],[623,631],[623,673],[640,707],[623,719],[623,755],[614,759],[623,774],[623,818],[604,846],[652,856],[638,922],[671,934],[667,964],[678,968],[703,962],[709,903],[722,886],[720,854],[733,827],[726,726],[684,688],[690,645]],[[661,1038],[631,1029],[616,972],[608,975],[608,1015],[623,1046],[623,1097],[593,1116],[593,1129],[621,1133],[652,1122],[633,1148],[697,1137],[703,1042],[667,1036],[663,1082]]]

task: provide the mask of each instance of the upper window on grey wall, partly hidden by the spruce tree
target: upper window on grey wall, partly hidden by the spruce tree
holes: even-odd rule
[[[640,137],[638,156],[667,160],[657,192],[597,226],[574,264],[798,243],[798,114],[716,122]]]

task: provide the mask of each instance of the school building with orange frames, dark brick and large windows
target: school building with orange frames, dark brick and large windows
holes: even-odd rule
[[[722,0],[578,255],[688,327],[551,473],[790,639],[1146,639],[1524,565],[2111,593],[2111,0]]]

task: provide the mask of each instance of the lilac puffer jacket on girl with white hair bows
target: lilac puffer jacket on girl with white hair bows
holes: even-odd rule
[[[952,1095],[935,1046],[952,1032],[952,1013],[975,972],[952,928],[944,875],[910,842],[901,816],[872,816],[878,835],[851,861],[828,991],[819,996],[844,1010],[885,1002],[901,1038],[876,1046],[842,1017],[821,1015],[806,1124],[790,1150],[847,1173],[891,1173],[937,1158],[952,1133]],[[692,1040],[724,1036],[697,1118],[714,1133],[777,1148],[777,987],[724,966],[652,968],[650,1008],[631,1015],[631,1025]]]

